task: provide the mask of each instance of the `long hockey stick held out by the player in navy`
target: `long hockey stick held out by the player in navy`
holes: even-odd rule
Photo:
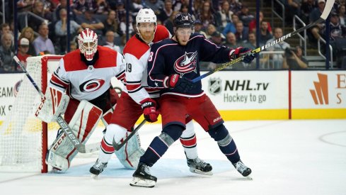
[[[310,24],[308,24],[307,26],[303,26],[302,28],[299,28],[298,30],[295,30],[295,31],[292,32],[292,33],[288,33],[287,35],[283,35],[281,38],[278,38],[277,40],[273,40],[272,42],[267,43],[266,45],[263,45],[262,47],[257,48],[257,49],[255,49],[255,50],[252,50],[251,52],[252,52],[252,53],[258,53],[258,52],[260,52],[260,51],[262,51],[262,50],[265,50],[265,49],[267,49],[267,48],[270,48],[270,47],[272,47],[272,45],[275,45],[275,44],[277,44],[277,43],[282,42],[282,40],[285,40],[285,39],[287,39],[287,38],[290,38],[290,37],[292,37],[293,35],[296,35],[296,34],[300,33],[301,31],[310,28],[311,26],[315,26],[316,24],[325,21],[325,20],[327,19],[328,15],[329,15],[330,11],[332,10],[332,8],[333,8],[333,6],[334,6],[334,2],[335,2],[335,0],[328,0],[328,1],[325,3],[325,7],[324,7],[324,10],[323,10],[323,13],[321,14],[321,17],[318,18],[317,21],[315,21],[315,22],[313,22],[313,23],[310,23]],[[195,83],[195,82],[198,82],[198,81],[202,80],[204,77],[208,77],[210,74],[213,74],[214,72],[218,72],[218,71],[221,70],[221,69],[224,69],[224,68],[226,68],[226,67],[229,67],[229,66],[231,66],[231,65],[234,65],[234,64],[236,64],[236,62],[241,62],[241,60],[243,60],[243,57],[244,57],[244,56],[241,56],[241,57],[238,57],[238,58],[235,59],[235,60],[232,60],[232,61],[230,61],[230,62],[226,62],[226,63],[220,65],[219,67],[217,67],[216,69],[212,69],[211,71],[209,71],[209,72],[207,72],[207,73],[205,73],[205,74],[200,75],[200,77],[196,77],[195,79],[192,79],[192,82],[194,82],[194,83]]]

